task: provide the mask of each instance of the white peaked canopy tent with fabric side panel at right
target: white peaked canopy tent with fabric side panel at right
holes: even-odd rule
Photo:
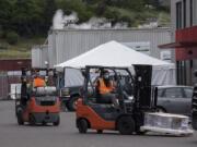
[[[152,85],[175,84],[174,64],[135,51],[117,41],[103,44],[56,68],[82,69],[85,65],[125,66],[134,64],[153,65]]]

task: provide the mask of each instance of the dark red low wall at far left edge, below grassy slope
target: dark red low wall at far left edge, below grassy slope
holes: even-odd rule
[[[21,71],[21,68],[31,68],[31,59],[0,60],[0,71]]]

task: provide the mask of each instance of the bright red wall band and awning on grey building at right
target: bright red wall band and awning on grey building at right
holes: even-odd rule
[[[175,39],[175,42],[159,48],[175,48],[176,61],[197,59],[197,26],[177,29]]]

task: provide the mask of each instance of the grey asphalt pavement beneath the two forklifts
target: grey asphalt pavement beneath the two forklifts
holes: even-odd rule
[[[119,135],[117,132],[79,134],[74,113],[61,112],[59,126],[19,126],[14,101],[0,101],[0,147],[197,147],[197,132],[189,137]]]

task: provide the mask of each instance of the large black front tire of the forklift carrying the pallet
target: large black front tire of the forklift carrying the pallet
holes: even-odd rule
[[[121,135],[131,135],[135,132],[135,121],[129,115],[120,117],[117,120],[117,130]]]

